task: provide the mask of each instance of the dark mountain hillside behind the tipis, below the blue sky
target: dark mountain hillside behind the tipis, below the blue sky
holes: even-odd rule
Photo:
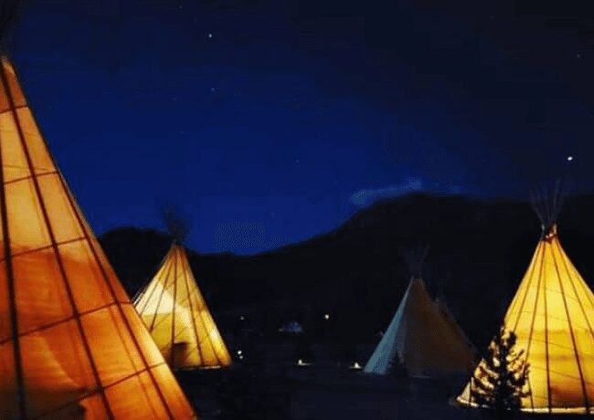
[[[594,276],[594,197],[567,200],[559,235],[584,278]],[[191,253],[211,308],[266,313],[276,325],[333,313],[334,331],[373,341],[386,328],[408,273],[401,252],[430,246],[425,278],[441,292],[468,335],[483,347],[514,295],[540,227],[525,203],[413,194],[377,203],[333,232],[249,257]],[[169,239],[152,230],[115,229],[101,243],[130,293],[150,277]],[[314,324],[315,322],[313,322]]]

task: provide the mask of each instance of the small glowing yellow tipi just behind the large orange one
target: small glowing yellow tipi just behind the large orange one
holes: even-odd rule
[[[184,247],[174,243],[154,278],[134,299],[134,305],[173,369],[231,364]]]

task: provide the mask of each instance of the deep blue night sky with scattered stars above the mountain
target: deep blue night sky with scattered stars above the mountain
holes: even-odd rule
[[[594,190],[591,1],[29,0],[9,36],[98,234],[167,203],[251,253],[408,191]]]

